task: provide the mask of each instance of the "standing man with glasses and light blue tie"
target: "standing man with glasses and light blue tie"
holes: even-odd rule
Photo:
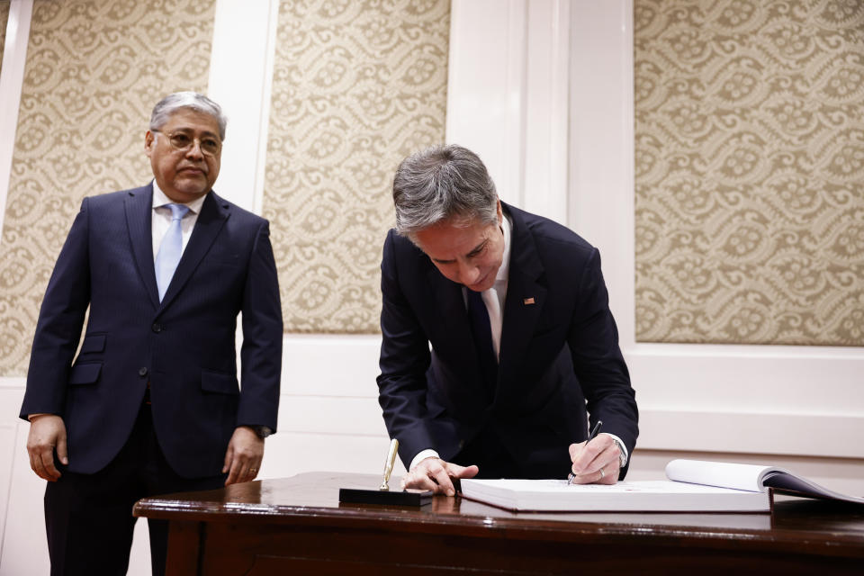
[[[202,94],[157,103],[154,180],[85,198],[54,267],[21,410],[31,467],[49,481],[52,574],[126,573],[136,500],[251,481],[276,428],[273,249],[266,220],[212,192],[225,124]],[[166,523],[148,527],[161,574]]]

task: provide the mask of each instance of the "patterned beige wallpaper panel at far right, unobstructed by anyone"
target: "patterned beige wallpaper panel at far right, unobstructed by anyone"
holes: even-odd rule
[[[635,0],[636,338],[864,346],[864,2]]]

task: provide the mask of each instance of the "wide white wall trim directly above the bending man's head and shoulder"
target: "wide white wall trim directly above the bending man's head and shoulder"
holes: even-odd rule
[[[446,140],[473,149],[506,202],[567,211],[569,0],[454,0]]]

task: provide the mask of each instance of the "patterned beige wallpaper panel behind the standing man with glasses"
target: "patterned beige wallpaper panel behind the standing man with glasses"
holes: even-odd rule
[[[203,91],[215,0],[36,0],[0,251],[0,376],[27,370],[45,286],[85,195],[152,177],[144,132]]]

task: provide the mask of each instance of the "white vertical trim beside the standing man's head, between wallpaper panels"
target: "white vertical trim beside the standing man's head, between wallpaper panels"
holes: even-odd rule
[[[220,195],[260,213],[278,0],[217,0],[208,93],[228,115]]]

